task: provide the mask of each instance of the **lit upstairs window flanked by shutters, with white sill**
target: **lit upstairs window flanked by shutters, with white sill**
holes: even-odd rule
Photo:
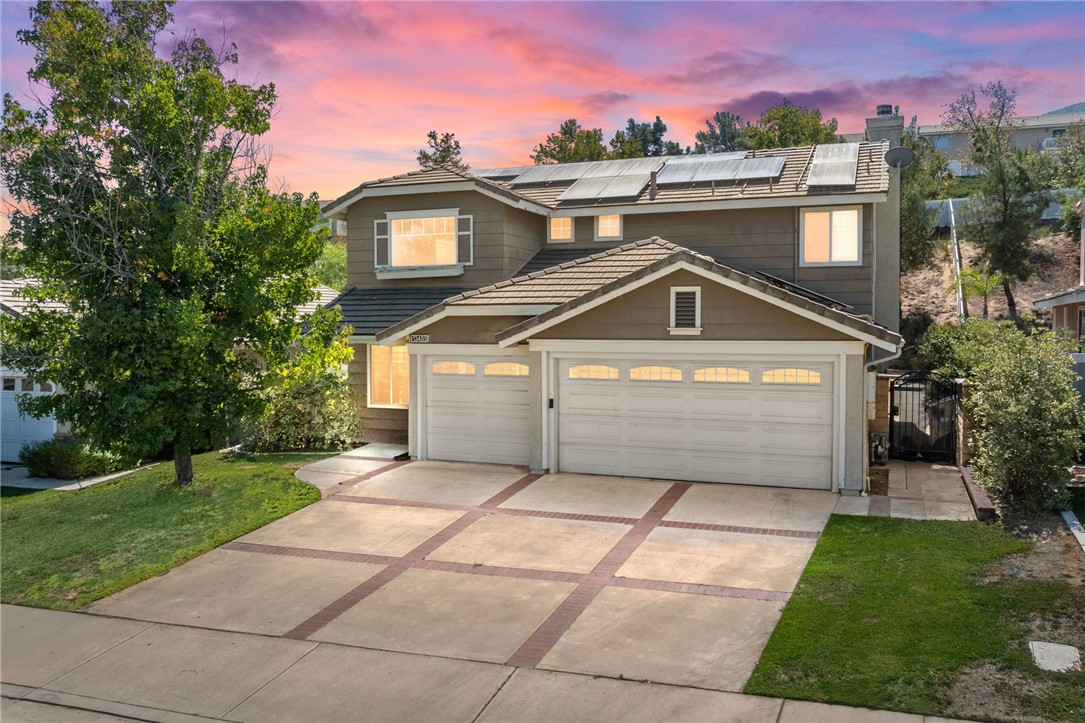
[[[473,219],[458,208],[390,212],[373,221],[376,268],[469,265],[473,258]]]

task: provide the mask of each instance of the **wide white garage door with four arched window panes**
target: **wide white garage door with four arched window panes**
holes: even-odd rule
[[[564,472],[832,487],[833,365],[561,360]]]

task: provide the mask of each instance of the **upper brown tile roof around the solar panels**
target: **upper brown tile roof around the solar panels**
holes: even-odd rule
[[[816,198],[819,195],[839,195],[841,193],[885,193],[889,190],[889,165],[885,163],[885,152],[889,141],[860,142],[859,157],[856,165],[855,183],[840,187],[815,187],[806,185],[809,175],[810,161],[816,147],[766,149],[750,151],[748,158],[764,158],[782,156],[783,169],[774,179],[748,179],[738,181],[699,181],[685,183],[660,183],[653,195],[646,187],[639,194],[625,199],[573,199],[559,201],[573,180],[554,180],[544,183],[516,183],[511,176],[531,166],[498,169],[505,172],[505,179],[488,174],[493,170],[478,170],[480,175],[468,172],[461,174],[449,168],[431,168],[412,170],[398,176],[379,178],[367,181],[344,193],[334,202],[324,206],[328,213],[342,213],[354,201],[361,198],[367,190],[403,188],[410,186],[441,186],[445,183],[472,182],[477,188],[503,196],[516,204],[531,203],[553,211],[585,208],[596,206],[662,206],[671,203],[712,202],[712,201],[749,201],[768,198]],[[681,156],[682,163],[692,163],[690,156]],[[711,156],[704,156],[711,160]],[[631,158],[630,163],[643,161]],[[602,161],[598,163],[621,164],[623,161]],[[667,163],[667,157],[660,157],[660,163]],[[483,176],[485,175],[485,176]]]

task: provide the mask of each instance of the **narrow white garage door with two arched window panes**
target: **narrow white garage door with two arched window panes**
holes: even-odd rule
[[[425,375],[429,459],[531,462],[526,359],[427,357]]]

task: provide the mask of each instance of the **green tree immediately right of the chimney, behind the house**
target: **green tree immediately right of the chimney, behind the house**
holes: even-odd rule
[[[927,202],[943,198],[953,182],[949,158],[919,135],[916,118],[905,128],[902,145],[916,160],[901,169],[901,271],[922,268],[934,258],[937,211]]]

